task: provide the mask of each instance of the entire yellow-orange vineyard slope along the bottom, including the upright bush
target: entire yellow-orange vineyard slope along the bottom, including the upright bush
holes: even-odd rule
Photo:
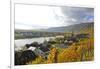
[[[48,64],[48,63],[64,63],[64,62],[80,62],[94,60],[94,38],[93,31],[90,32],[90,38],[80,39],[78,42],[72,43],[66,48],[60,48],[60,41],[55,39],[57,43],[50,48],[47,59],[38,56],[36,60],[28,64]],[[60,39],[61,41],[63,39]]]

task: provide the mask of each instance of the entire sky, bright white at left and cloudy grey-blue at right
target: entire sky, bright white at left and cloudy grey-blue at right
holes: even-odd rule
[[[15,29],[47,29],[93,21],[93,8],[15,5]]]

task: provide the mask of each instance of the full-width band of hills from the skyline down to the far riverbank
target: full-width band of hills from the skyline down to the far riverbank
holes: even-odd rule
[[[65,32],[86,32],[87,30],[93,30],[94,23],[81,23],[70,26],[63,27],[51,27],[48,29],[40,29],[40,30],[23,30],[23,29],[15,29],[15,39],[23,39],[23,38],[36,38],[36,37],[51,37],[57,36],[59,34],[63,34]]]

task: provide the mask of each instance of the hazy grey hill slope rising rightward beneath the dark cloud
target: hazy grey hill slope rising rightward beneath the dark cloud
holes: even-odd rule
[[[89,28],[94,27],[94,22],[91,23],[81,23],[81,24],[75,24],[75,25],[70,25],[70,26],[63,26],[63,27],[53,27],[46,29],[45,31],[48,32],[80,32],[81,30],[86,30]]]

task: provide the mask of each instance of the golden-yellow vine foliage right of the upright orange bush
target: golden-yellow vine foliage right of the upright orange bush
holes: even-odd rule
[[[88,39],[66,48],[58,55],[58,62],[89,61],[94,58],[94,41]]]

